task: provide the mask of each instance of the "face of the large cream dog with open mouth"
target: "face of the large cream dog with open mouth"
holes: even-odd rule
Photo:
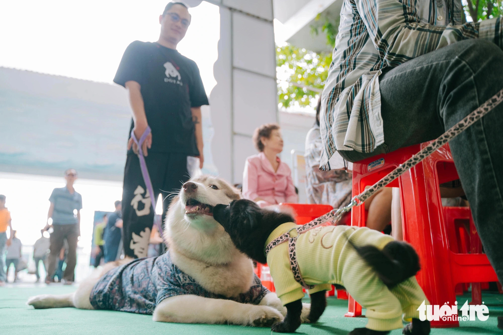
[[[229,204],[240,198],[239,192],[220,178],[201,176],[185,183],[178,203],[185,211],[185,219],[200,228],[218,225],[213,219],[213,207]]]

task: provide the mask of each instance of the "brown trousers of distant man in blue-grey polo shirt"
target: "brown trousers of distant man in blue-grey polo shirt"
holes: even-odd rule
[[[49,242],[49,265],[47,266],[47,279],[51,279],[51,275],[56,270],[56,262],[59,260],[59,252],[63,247],[64,240],[68,242],[68,255],[66,256],[66,269],[63,274],[63,279],[68,281],[74,280],[74,270],[77,263],[77,224],[54,224]],[[61,279],[61,278],[58,278]]]

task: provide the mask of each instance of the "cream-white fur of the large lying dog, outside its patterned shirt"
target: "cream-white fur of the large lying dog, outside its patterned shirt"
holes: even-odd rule
[[[166,217],[164,236],[172,261],[206,290],[236,297],[247,292],[253,283],[251,261],[236,249],[229,235],[212,216],[186,215],[185,203],[191,197],[212,206],[228,204],[238,193],[221,179],[201,176],[191,181],[197,184],[197,191],[189,196],[182,189]],[[216,185],[218,190],[210,188],[211,185]],[[93,286],[107,271],[128,261],[106,264],[101,271],[84,280],[74,293],[39,295],[31,297],[28,304],[35,308],[74,306],[93,309],[89,301]],[[306,320],[308,314],[309,304],[304,304],[302,320]],[[275,293],[268,293],[259,305],[181,295],[161,301],[153,312],[153,320],[268,326],[283,320],[284,315],[286,308]]]

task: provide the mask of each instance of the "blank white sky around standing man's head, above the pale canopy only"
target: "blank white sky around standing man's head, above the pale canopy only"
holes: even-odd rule
[[[158,39],[158,17],[168,2],[2,1],[0,66],[112,82],[129,43]],[[178,50],[198,64],[209,95],[216,84],[219,9],[202,2],[189,12],[192,22]]]

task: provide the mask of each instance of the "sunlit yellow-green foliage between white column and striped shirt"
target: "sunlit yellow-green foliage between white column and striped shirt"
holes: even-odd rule
[[[293,45],[276,48],[278,70],[289,74],[287,82],[278,80],[278,96],[281,107],[315,105],[312,102],[323,90],[328,67],[332,62],[330,53],[316,53]],[[311,90],[315,89],[316,91]]]

